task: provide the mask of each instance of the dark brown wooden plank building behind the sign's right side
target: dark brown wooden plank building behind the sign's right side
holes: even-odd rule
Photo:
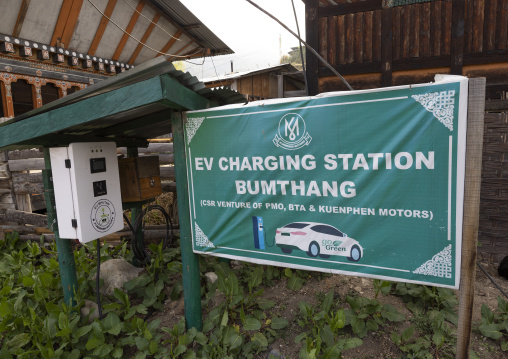
[[[508,0],[304,0],[307,42],[354,89],[485,77],[478,250],[508,255]],[[347,90],[307,52],[310,94]]]

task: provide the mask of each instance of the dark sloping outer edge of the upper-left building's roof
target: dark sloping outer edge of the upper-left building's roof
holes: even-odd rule
[[[180,1],[150,0],[150,2],[171,16],[171,18],[183,27],[185,31],[201,41],[204,47],[210,48],[212,50],[212,54],[226,55],[234,53],[228,45],[219,39]]]

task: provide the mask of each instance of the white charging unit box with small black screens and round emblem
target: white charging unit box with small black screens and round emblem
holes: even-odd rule
[[[50,149],[61,238],[93,241],[124,226],[116,144],[78,142]]]

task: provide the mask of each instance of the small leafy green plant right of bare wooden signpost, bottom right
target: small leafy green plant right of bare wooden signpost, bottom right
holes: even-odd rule
[[[482,304],[480,332],[487,338],[499,341],[502,351],[508,351],[508,302],[497,297],[497,308],[493,312]]]

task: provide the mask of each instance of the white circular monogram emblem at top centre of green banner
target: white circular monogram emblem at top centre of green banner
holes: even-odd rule
[[[288,113],[280,119],[279,133],[275,135],[273,143],[286,150],[297,150],[308,146],[311,140],[303,117],[297,113]]]

